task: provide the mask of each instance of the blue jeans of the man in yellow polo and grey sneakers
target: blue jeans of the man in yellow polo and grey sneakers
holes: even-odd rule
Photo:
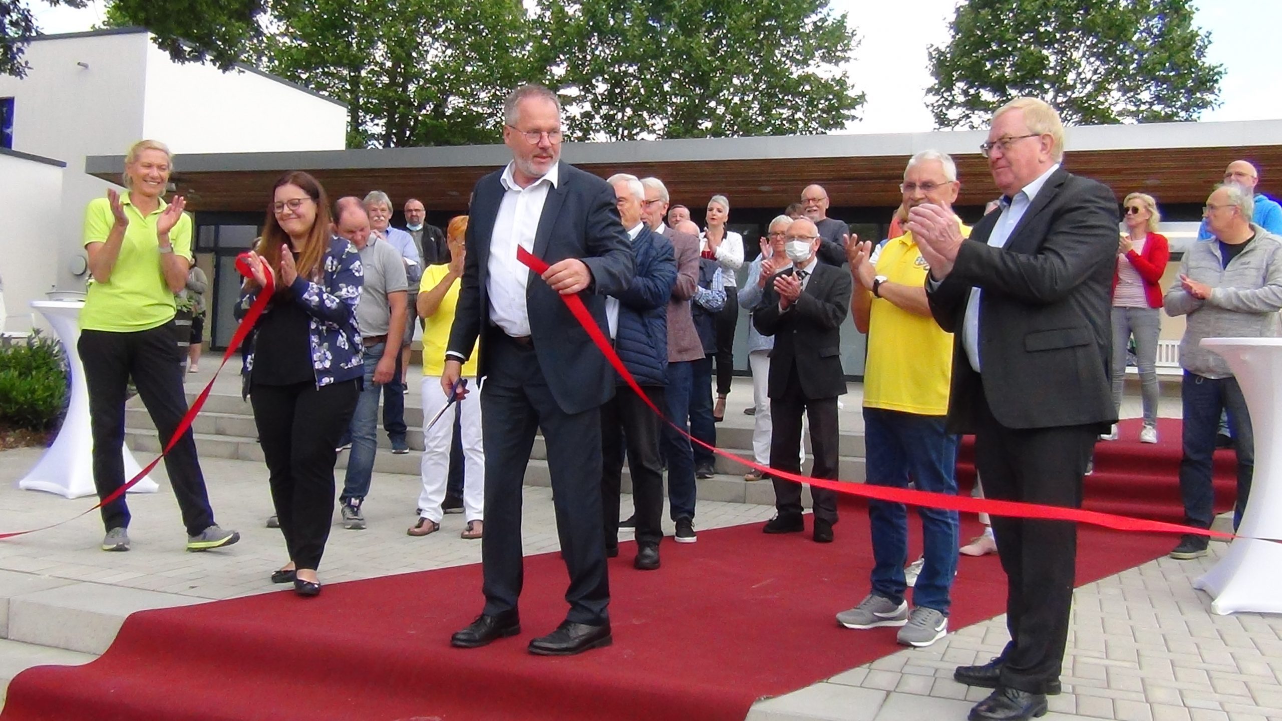
[[[942,416],[918,416],[864,408],[868,482],[956,495],[954,476],[958,436],[944,430]],[[926,563],[917,577],[913,604],[947,616],[949,591],[958,566],[958,514],[919,507]],[[868,502],[873,541],[873,593],[895,603],[904,600],[908,584],[908,512],[903,503]]]

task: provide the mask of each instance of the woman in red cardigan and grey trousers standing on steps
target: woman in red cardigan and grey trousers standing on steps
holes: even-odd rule
[[[1158,334],[1161,330],[1161,273],[1170,260],[1167,237],[1155,232],[1161,221],[1151,195],[1126,196],[1127,232],[1118,240],[1118,266],[1113,273],[1113,403],[1122,405],[1126,352],[1135,337],[1144,400],[1140,443],[1158,443]],[[1117,440],[1113,426],[1104,440]]]

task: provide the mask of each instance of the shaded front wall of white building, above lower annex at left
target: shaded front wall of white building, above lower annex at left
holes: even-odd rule
[[[85,287],[69,268],[82,253],[85,205],[109,187],[85,174],[85,157],[124,153],[142,128],[147,45],[145,32],[40,40],[27,46],[27,77],[0,76],[0,96],[14,99],[13,149],[67,163],[60,203],[44,222],[58,242],[28,258],[33,275],[53,264],[62,290]]]

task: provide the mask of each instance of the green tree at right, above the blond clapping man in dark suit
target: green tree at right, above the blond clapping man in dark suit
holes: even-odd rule
[[[967,0],[929,49],[935,123],[979,127],[1022,95],[1073,124],[1196,119],[1224,68],[1192,19],[1190,0]]]

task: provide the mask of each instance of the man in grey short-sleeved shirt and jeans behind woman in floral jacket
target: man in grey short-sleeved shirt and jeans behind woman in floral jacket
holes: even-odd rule
[[[356,198],[341,198],[335,204],[338,235],[360,251],[365,284],[356,305],[356,326],[364,344],[365,378],[351,414],[351,455],[342,486],[342,527],[364,529],[360,504],[369,493],[369,476],[378,449],[378,395],[391,382],[405,332],[405,263],[400,250],[370,232],[369,216]],[[387,343],[391,339],[392,343]]]

